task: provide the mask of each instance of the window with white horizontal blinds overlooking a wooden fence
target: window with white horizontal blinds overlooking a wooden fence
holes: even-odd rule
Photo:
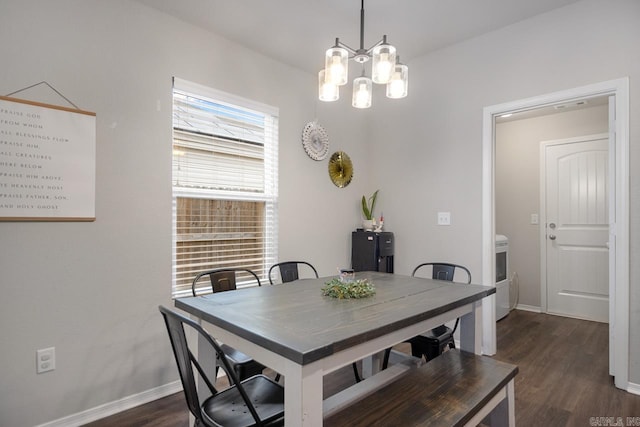
[[[174,79],[174,297],[213,268],[266,278],[278,249],[277,152],[277,109]]]

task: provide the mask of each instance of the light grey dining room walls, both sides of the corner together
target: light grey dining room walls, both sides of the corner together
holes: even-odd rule
[[[308,258],[321,274],[349,262],[357,202],[380,188],[398,273],[448,259],[482,277],[485,106],[629,76],[632,171],[640,161],[633,0],[584,0],[413,59],[409,97],[374,98],[367,113],[315,101],[315,75],[127,0],[4,0],[0,12],[0,93],[46,80],[97,113],[96,222],[0,223],[0,425],[36,425],[177,378],[156,310],[170,304],[174,75],[280,108],[281,258]],[[345,189],[330,183],[326,161],[302,150],[302,127],[314,118],[327,128],[330,151],[354,160]],[[630,193],[633,260],[634,175]],[[452,213],[449,227],[435,225],[442,210]],[[631,266],[630,295],[636,383],[638,268]],[[58,368],[36,375],[35,350],[47,346],[56,346]]]

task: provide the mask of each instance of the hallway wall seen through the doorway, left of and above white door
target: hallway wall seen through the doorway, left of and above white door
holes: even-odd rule
[[[540,307],[540,142],[607,133],[608,116],[601,105],[496,125],[496,233],[509,237],[519,304]]]

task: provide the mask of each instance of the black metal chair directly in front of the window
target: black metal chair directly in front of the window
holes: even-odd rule
[[[260,278],[253,271],[246,268],[218,268],[214,270],[203,271],[199,273],[193,282],[191,283],[191,292],[193,296],[204,295],[202,293],[198,293],[197,283],[204,276],[208,276],[211,282],[211,292],[225,292],[232,291],[236,289],[236,274],[240,273],[244,276],[248,276],[250,279],[254,278],[260,284]],[[253,277],[252,277],[253,276]],[[209,292],[209,293],[211,293]],[[240,378],[240,380],[244,380],[245,378],[252,377],[254,375],[262,373],[265,366],[256,362],[246,354],[241,351],[236,350],[233,347],[229,347],[226,344],[221,344],[222,350],[227,358],[227,361],[231,364],[234,372]],[[278,381],[280,377],[278,376],[276,381]]]

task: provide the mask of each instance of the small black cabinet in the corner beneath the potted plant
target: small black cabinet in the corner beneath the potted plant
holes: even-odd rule
[[[354,231],[351,233],[351,268],[354,271],[393,273],[393,233]]]

